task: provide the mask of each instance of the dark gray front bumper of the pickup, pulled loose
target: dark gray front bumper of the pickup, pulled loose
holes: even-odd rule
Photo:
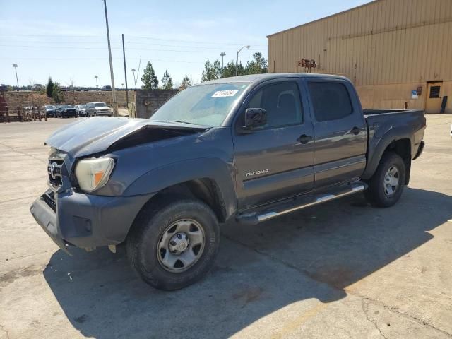
[[[95,196],[48,190],[32,203],[30,212],[69,254],[67,245],[94,249],[124,242],[136,215],[152,196]]]

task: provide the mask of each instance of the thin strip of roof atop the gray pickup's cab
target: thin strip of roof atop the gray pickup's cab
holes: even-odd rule
[[[257,83],[278,78],[336,78],[348,80],[345,76],[336,76],[333,74],[323,73],[264,73],[264,74],[250,74],[248,76],[231,76],[230,78],[220,78],[211,81],[206,81],[198,85],[209,85],[213,83]]]

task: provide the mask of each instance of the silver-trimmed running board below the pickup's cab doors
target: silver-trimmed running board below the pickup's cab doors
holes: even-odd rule
[[[319,203],[326,203],[327,201],[342,198],[343,196],[349,196],[357,192],[367,189],[367,184],[363,182],[355,182],[348,184],[347,186],[340,186],[334,189],[328,190],[327,193],[318,194],[304,194],[297,198],[292,198],[289,202],[281,201],[278,204],[273,204],[273,207],[258,210],[256,212],[247,212],[239,214],[236,217],[237,222],[244,225],[256,225],[259,222],[263,222],[280,215],[294,212],[295,210],[301,210],[310,206],[317,205]]]

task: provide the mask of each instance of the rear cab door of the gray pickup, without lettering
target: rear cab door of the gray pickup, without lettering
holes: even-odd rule
[[[314,124],[316,188],[357,179],[366,166],[366,122],[351,83],[306,79]]]

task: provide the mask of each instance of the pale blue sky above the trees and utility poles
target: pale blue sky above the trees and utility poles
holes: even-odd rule
[[[207,59],[244,64],[254,52],[268,57],[267,35],[329,16],[369,0],[145,1],[107,0],[114,80],[124,83],[121,33],[126,45],[127,80],[151,61],[159,81],[165,70],[179,84],[186,73],[201,80]],[[0,0],[0,83],[110,85],[104,8],[101,0]],[[141,85],[141,81],[137,81]]]

